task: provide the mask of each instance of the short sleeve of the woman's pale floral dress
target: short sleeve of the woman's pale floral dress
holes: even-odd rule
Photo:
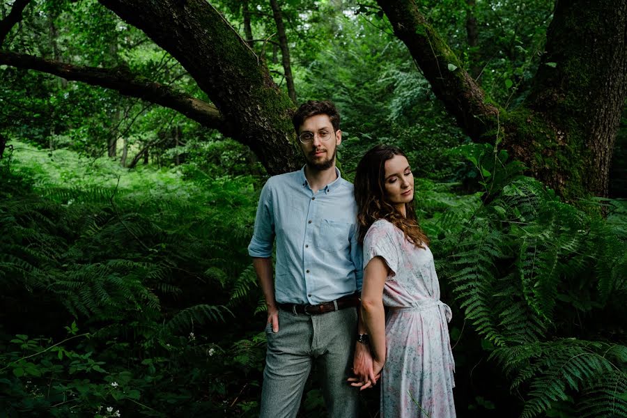
[[[385,260],[387,267],[392,270],[390,276],[398,272],[398,249],[400,242],[396,238],[395,226],[386,220],[380,219],[370,226],[364,238],[364,269],[369,261],[380,256]]]

